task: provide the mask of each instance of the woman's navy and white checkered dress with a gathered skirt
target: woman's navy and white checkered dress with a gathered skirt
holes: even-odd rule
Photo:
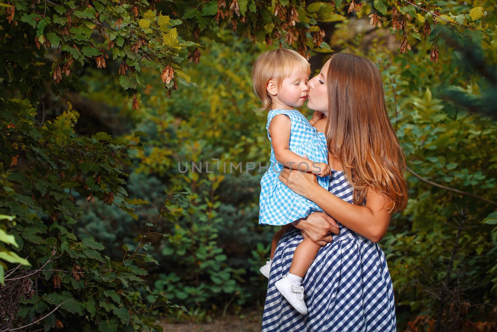
[[[343,172],[331,171],[329,190],[352,203],[352,188]],[[395,332],[394,290],[383,250],[338,225],[340,234],[319,250],[302,280],[307,316],[274,285],[288,273],[302,235],[292,227],[280,239],[267,285],[263,332]]]

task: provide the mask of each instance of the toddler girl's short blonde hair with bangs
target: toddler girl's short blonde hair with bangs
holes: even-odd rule
[[[267,51],[257,57],[252,68],[252,82],[255,94],[262,101],[261,110],[268,110],[272,104],[266,90],[267,82],[275,81],[280,89],[283,80],[298,70],[311,73],[311,66],[306,58],[287,48]]]

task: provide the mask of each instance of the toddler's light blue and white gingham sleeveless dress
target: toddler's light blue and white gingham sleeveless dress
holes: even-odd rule
[[[267,114],[269,141],[269,123],[277,114],[285,114],[290,118],[290,151],[299,156],[307,154],[310,161],[328,163],[328,150],[326,136],[318,132],[302,113],[297,110],[272,110]],[[297,168],[297,164],[293,167]],[[300,218],[309,216],[310,213],[321,210],[314,202],[295,194],[285,186],[278,176],[283,169],[274,156],[271,147],[270,166],[260,180],[259,198],[259,224],[285,225]],[[310,169],[311,171],[312,169]],[[328,188],[330,177],[318,176],[318,183],[323,188]]]

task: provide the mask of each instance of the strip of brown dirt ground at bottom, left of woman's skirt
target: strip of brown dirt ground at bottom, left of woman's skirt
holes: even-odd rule
[[[252,312],[244,318],[234,315],[219,317],[208,323],[161,323],[164,332],[259,332],[262,313]]]

